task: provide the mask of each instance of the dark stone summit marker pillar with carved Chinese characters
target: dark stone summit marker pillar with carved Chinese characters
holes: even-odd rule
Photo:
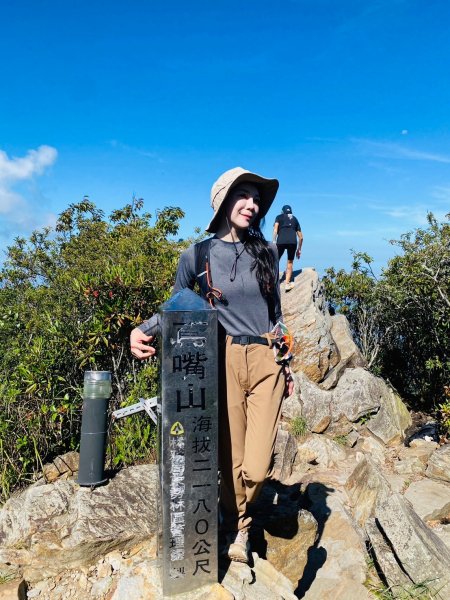
[[[164,596],[217,582],[217,311],[184,289],[162,315],[160,543]]]

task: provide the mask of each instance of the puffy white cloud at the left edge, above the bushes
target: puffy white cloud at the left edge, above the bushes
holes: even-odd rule
[[[33,228],[41,225],[41,221],[52,220],[51,215],[43,214],[42,206],[32,207],[14,188],[42,175],[45,169],[53,165],[57,156],[58,152],[51,146],[39,146],[36,150],[29,150],[23,157],[12,158],[0,150],[0,215],[4,221],[2,237],[11,237],[15,230]]]

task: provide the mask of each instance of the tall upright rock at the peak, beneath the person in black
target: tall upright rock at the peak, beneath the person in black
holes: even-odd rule
[[[331,334],[323,285],[314,269],[303,269],[293,290],[283,294],[282,304],[284,322],[295,339],[293,370],[302,371],[311,381],[322,381],[340,356]]]

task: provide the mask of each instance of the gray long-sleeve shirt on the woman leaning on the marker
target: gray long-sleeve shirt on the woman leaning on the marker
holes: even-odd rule
[[[275,244],[269,244],[269,249],[275,258],[276,289],[274,293],[273,316],[271,318],[266,299],[261,295],[256,279],[256,269],[251,271],[253,257],[243,249],[241,242],[236,243],[240,254],[236,265],[236,276],[231,281],[231,269],[236,257],[233,242],[225,242],[213,238],[210,246],[211,275],[215,288],[225,295],[228,304],[216,302],[219,322],[228,335],[255,335],[260,336],[269,332],[275,323],[282,318],[280,302],[280,286],[278,277],[278,252]],[[241,254],[241,250],[243,250]],[[202,275],[206,277],[206,275]],[[195,273],[195,246],[190,246],[180,256],[173,294],[184,288],[192,289],[196,281]],[[154,335],[158,329],[158,315],[139,326],[145,334]]]

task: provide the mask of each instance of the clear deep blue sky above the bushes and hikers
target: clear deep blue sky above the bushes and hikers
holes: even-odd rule
[[[447,0],[4,1],[0,249],[84,195],[187,237],[239,165],[280,180],[296,268],[380,268],[450,212],[449,39]]]

